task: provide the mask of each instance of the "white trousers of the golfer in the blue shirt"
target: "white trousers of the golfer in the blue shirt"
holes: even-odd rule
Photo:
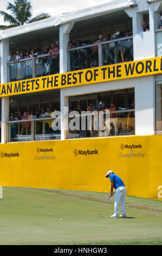
[[[126,197],[126,187],[121,186],[117,187],[115,190],[115,202],[114,202],[114,214],[119,214],[119,203],[121,204],[122,215],[126,215],[126,207],[125,207],[125,197]]]

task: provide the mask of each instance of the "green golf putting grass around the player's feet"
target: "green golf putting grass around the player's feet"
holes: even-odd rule
[[[162,201],[126,197],[128,218],[111,218],[107,193],[3,187],[1,245],[162,245]],[[63,218],[63,221],[61,221]]]

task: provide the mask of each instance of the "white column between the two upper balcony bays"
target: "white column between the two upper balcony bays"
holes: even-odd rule
[[[67,23],[60,26],[60,73],[68,71],[68,42],[69,33],[74,26],[74,22]]]

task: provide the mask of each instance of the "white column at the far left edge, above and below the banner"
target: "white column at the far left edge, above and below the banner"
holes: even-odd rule
[[[7,62],[9,56],[9,39],[1,41],[1,84],[7,83]],[[1,117],[1,143],[7,142],[7,125],[9,118],[9,96],[2,97],[2,117]]]

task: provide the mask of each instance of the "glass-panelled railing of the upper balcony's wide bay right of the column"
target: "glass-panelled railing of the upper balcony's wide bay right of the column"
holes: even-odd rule
[[[133,37],[67,49],[68,71],[133,60]]]

